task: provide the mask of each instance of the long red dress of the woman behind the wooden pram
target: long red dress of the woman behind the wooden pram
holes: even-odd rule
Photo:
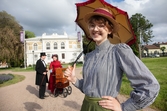
[[[51,93],[53,93],[55,89],[55,70],[56,68],[62,68],[61,63],[58,60],[52,61],[49,66],[49,69],[52,69],[52,73],[50,73],[49,83],[48,83],[48,89],[51,91]]]

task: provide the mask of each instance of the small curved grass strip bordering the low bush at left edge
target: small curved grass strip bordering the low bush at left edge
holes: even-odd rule
[[[13,75],[13,79],[3,82],[3,84],[0,84],[0,87],[9,86],[9,85],[21,82],[25,79],[25,76],[22,76],[22,75],[17,75],[17,74],[12,74],[12,75]]]

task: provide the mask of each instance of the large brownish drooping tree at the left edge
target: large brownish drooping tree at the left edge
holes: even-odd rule
[[[18,66],[23,61],[23,44],[20,31],[23,27],[5,11],[0,12],[0,61]]]

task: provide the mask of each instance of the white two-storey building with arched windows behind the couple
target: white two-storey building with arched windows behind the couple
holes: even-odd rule
[[[36,64],[40,58],[40,53],[46,53],[46,63],[52,61],[52,54],[58,54],[61,63],[74,62],[77,56],[83,51],[82,40],[79,42],[77,37],[52,34],[25,39],[25,63],[27,66]],[[83,56],[78,60],[83,62]]]

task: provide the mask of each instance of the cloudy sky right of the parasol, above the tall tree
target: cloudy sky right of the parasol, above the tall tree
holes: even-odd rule
[[[167,42],[167,0],[124,0],[110,3],[128,12],[129,17],[141,13],[153,24],[153,42]],[[151,43],[153,43],[151,42]]]

